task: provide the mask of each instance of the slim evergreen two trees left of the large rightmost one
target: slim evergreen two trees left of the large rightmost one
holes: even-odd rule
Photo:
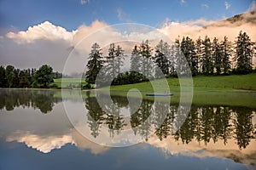
[[[223,54],[222,54],[221,46],[218,42],[218,39],[214,37],[212,42],[212,59],[214,61],[214,67],[216,69],[217,75],[221,73],[221,68],[223,67],[222,57],[223,57]]]

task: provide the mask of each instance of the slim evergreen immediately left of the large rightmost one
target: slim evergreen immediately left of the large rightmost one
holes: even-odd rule
[[[224,41],[221,42],[222,50],[222,68],[224,74],[229,74],[231,69],[230,56],[232,55],[231,42],[229,42],[228,37],[224,37]]]

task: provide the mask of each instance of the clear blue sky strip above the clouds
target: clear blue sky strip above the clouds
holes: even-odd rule
[[[247,11],[251,3],[252,0],[1,0],[0,29],[26,30],[45,20],[68,31],[94,20],[108,25],[136,22],[158,27],[166,18],[179,22],[221,20]]]

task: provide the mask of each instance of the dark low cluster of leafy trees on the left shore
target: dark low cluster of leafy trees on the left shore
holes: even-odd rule
[[[0,66],[0,88],[49,88],[54,77],[61,77],[61,73],[53,72],[49,65],[42,65],[38,70],[15,68],[7,65]]]

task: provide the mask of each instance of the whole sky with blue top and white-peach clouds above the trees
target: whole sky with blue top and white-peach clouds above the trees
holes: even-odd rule
[[[255,9],[256,1],[252,0],[0,0],[0,65],[24,69],[48,64],[63,71],[71,50],[84,37],[121,23],[152,26],[172,40],[177,36],[223,38],[227,34],[233,41],[239,31],[247,31],[255,41],[255,25],[251,23],[214,25]],[[203,28],[209,25],[211,29]],[[116,37],[113,30],[106,31],[107,37],[98,41]],[[90,45],[83,55],[88,54]],[[73,65],[82,67],[84,62],[86,59],[77,60]]]

